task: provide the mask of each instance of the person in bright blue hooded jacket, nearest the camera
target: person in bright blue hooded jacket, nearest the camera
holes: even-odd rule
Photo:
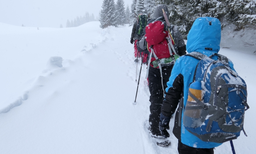
[[[221,23],[217,18],[202,17],[197,18],[188,33],[187,52],[200,52],[204,55],[211,56],[220,51],[221,42]],[[217,60],[217,56],[212,59]],[[181,56],[177,59],[172,71],[167,88],[165,89],[165,99],[161,108],[159,129],[163,137],[169,137],[167,127],[172,115],[175,113],[179,100],[183,99],[179,108],[186,106],[188,99],[188,87],[193,81],[196,65],[199,62],[191,56]],[[232,70],[233,63],[229,60],[229,66]],[[234,70],[235,71],[235,70]],[[182,98],[182,94],[184,98]],[[179,117],[179,111],[180,116]],[[183,110],[177,110],[175,114],[175,124],[173,134],[179,140],[179,154],[213,154],[214,147],[220,143],[204,142],[188,132],[183,125]],[[180,120],[180,121],[179,121]]]

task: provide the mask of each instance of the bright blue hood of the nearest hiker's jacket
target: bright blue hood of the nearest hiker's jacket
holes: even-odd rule
[[[187,52],[218,53],[220,43],[221,22],[212,17],[197,18],[188,33]]]

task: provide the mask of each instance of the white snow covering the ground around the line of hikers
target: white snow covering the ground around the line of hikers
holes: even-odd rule
[[[102,30],[99,25],[37,30],[0,23],[1,153],[178,154],[171,132],[174,118],[170,147],[157,146],[148,133],[146,65],[133,104],[138,83],[132,27]],[[234,147],[237,153],[253,153],[256,56],[246,47],[234,47],[235,39],[224,45],[231,48],[219,53],[233,61],[245,80],[250,106],[244,124],[248,137],[241,132]],[[215,153],[232,154],[229,142]]]

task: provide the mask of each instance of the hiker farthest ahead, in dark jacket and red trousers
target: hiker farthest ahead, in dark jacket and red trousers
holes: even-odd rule
[[[137,48],[137,41],[140,39],[140,35],[138,35],[136,33],[136,27],[138,25],[138,17],[136,19],[136,21],[134,22],[133,24],[133,27],[132,27],[132,34],[131,34],[131,40],[130,40],[130,43],[133,44],[134,43],[134,57],[137,58],[142,58],[142,53],[138,52],[138,48]],[[138,54],[138,55],[137,55]],[[134,62],[138,62],[137,59],[134,60]],[[144,55],[144,58],[143,58],[143,61],[142,63],[146,63],[147,62],[147,54]]]

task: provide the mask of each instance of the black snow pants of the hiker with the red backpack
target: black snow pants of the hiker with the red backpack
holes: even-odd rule
[[[163,75],[163,87],[164,90],[167,88],[167,82],[171,76],[171,70],[173,65],[162,67]],[[150,91],[150,115],[149,115],[149,124],[151,125],[152,134],[156,136],[161,136],[159,131],[159,121],[161,107],[163,104],[163,88],[162,88],[162,78],[160,69],[149,67],[148,72],[148,81],[149,81],[149,91]]]

